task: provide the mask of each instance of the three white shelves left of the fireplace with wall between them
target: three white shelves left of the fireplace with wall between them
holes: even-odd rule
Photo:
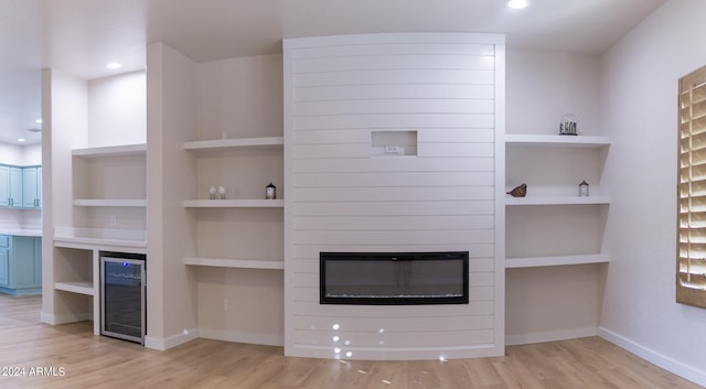
[[[184,201],[185,208],[195,208],[194,212],[197,213],[199,253],[184,258],[185,264],[284,269],[284,258],[281,255],[274,256],[276,252],[269,252],[266,259],[257,259],[263,256],[260,251],[268,251],[268,247],[277,246],[271,239],[284,239],[284,226],[278,225],[276,214],[267,210],[284,208],[282,193],[277,193],[275,199],[265,198],[265,186],[271,181],[279,184],[278,191],[284,186],[280,184],[282,144],[282,137],[184,142],[184,150],[194,154],[196,195],[200,197]],[[221,195],[216,193],[216,199],[212,199],[212,187],[224,187],[225,198],[220,199]],[[210,212],[208,208],[221,210]],[[281,210],[275,212],[281,215]],[[247,220],[249,221],[244,224]],[[261,241],[263,247],[252,247],[253,241]],[[274,257],[279,258],[270,259]]]

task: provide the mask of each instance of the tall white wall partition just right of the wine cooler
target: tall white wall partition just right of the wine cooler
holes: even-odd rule
[[[196,287],[182,259],[193,255],[192,163],[183,142],[196,128],[195,63],[154,43],[147,48],[147,347],[165,349],[197,337]]]

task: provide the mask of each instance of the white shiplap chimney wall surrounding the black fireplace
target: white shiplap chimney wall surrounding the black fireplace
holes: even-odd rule
[[[321,36],[284,52],[285,353],[502,355],[504,37]],[[467,250],[469,304],[319,304],[320,251]]]

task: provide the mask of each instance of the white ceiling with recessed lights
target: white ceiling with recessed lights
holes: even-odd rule
[[[282,37],[464,31],[509,47],[600,54],[667,0],[0,0],[0,142],[40,136],[40,69],[85,79],[145,68],[148,43],[196,62],[281,51]]]

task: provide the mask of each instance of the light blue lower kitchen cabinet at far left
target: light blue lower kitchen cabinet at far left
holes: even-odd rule
[[[0,235],[0,292],[42,292],[42,238]]]

